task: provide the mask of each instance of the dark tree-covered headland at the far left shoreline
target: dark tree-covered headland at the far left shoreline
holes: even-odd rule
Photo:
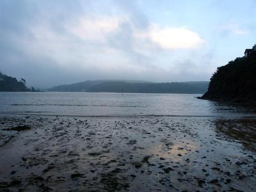
[[[0,72],[0,91],[28,91],[28,89],[22,81]]]

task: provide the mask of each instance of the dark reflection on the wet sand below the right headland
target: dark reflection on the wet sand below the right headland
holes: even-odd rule
[[[231,139],[245,149],[256,151],[256,119],[215,120],[215,132],[219,139]]]

